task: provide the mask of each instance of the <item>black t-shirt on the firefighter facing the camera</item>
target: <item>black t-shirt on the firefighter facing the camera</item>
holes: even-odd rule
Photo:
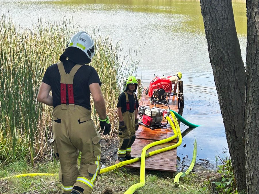
[[[135,105],[135,99],[134,99],[134,96],[136,97],[136,94],[132,94],[132,95],[129,95],[128,94],[128,97],[129,97],[129,112],[134,112],[135,109],[134,109],[134,105]],[[138,99],[136,97],[136,108],[138,108]],[[126,112],[126,95],[125,93],[121,93],[121,95],[119,96],[119,101],[118,101],[118,104],[117,104],[117,107],[121,107],[121,112]]]

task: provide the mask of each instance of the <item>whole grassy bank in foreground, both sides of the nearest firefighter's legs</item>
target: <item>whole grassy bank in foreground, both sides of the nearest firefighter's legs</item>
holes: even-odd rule
[[[59,163],[41,162],[35,164],[34,168],[26,165],[25,162],[15,162],[0,170],[0,177],[18,173],[58,173]],[[131,185],[139,181],[139,170],[121,168],[112,172],[106,172],[98,177],[93,194],[97,193],[124,193]],[[211,172],[206,172],[212,174]],[[202,191],[203,182],[207,178],[206,173],[190,174],[181,178],[181,184],[188,190],[174,187],[174,178],[167,172],[147,171],[146,185],[138,189],[138,194],[195,194],[206,193]],[[59,193],[61,186],[56,176],[35,176],[10,178],[9,180],[0,179],[0,193]]]

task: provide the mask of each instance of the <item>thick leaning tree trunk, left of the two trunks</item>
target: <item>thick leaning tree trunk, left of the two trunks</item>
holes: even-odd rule
[[[238,191],[245,183],[245,68],[231,0],[201,0],[210,63]]]

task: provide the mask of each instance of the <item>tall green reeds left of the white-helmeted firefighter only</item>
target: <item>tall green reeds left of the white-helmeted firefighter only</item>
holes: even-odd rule
[[[33,29],[21,29],[9,14],[0,18],[0,146],[5,148],[1,165],[26,157],[33,166],[35,155],[47,149],[50,112],[37,101],[37,93],[46,65],[54,63],[56,47],[68,36],[53,44],[60,30],[49,27],[57,26],[39,20]]]

